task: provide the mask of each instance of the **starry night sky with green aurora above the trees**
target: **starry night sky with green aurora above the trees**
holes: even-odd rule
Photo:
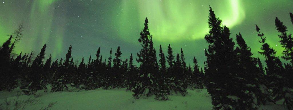
[[[289,12],[292,0],[0,0],[0,43],[18,26],[24,24],[23,38],[16,45],[16,53],[39,53],[46,43],[46,55],[54,59],[65,57],[72,45],[74,60],[88,59],[101,48],[103,58],[110,56],[118,45],[122,59],[139,52],[138,38],[145,17],[149,19],[154,46],[165,52],[171,44],[174,55],[183,48],[187,64],[199,65],[206,60],[204,40],[208,32],[208,10],[212,6],[217,17],[231,30],[231,37],[241,33],[254,57],[259,55],[260,38],[255,23],[267,37],[267,42],[281,56],[283,48],[275,30],[275,16],[293,32]],[[112,55],[113,56],[113,55]],[[283,62],[285,60],[281,59]]]

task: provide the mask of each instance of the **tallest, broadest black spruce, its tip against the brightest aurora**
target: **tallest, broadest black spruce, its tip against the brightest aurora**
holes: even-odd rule
[[[245,93],[245,84],[239,82],[243,78],[239,76],[237,57],[231,57],[236,56],[236,51],[229,28],[222,26],[222,21],[216,17],[212,8],[209,8],[210,30],[205,35],[205,40],[209,43],[209,53],[206,52],[205,76],[208,92],[212,96],[213,109],[257,109],[257,106],[251,103],[253,97]]]

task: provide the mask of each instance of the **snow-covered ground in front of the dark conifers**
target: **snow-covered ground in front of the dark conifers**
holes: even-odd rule
[[[50,86],[48,86],[50,91]],[[168,101],[157,101],[155,96],[146,99],[133,99],[133,92],[125,88],[111,90],[78,90],[69,89],[70,92],[38,91],[36,96],[17,95],[20,89],[12,92],[0,91],[0,110],[13,110],[16,106],[25,110],[39,110],[48,107],[51,110],[211,110],[211,97],[206,89],[188,90],[187,96],[169,96]],[[17,98],[18,97],[18,98]],[[56,102],[56,103],[54,103]],[[18,103],[18,104],[16,104]],[[264,110],[287,110],[280,102],[261,107]]]

